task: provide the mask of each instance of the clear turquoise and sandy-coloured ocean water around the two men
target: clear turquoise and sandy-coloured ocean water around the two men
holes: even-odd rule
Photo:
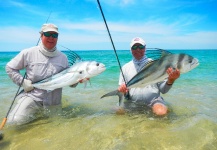
[[[163,94],[168,116],[147,111],[116,115],[118,97],[100,99],[118,87],[119,67],[110,51],[76,51],[84,60],[106,65],[106,71],[84,87],[63,89],[62,114],[19,126],[5,125],[1,150],[214,150],[217,149],[217,50],[171,50],[199,59],[200,65],[182,74]],[[5,73],[6,63],[18,52],[0,52],[0,119],[18,89]],[[129,51],[117,51],[120,62],[131,60]]]

